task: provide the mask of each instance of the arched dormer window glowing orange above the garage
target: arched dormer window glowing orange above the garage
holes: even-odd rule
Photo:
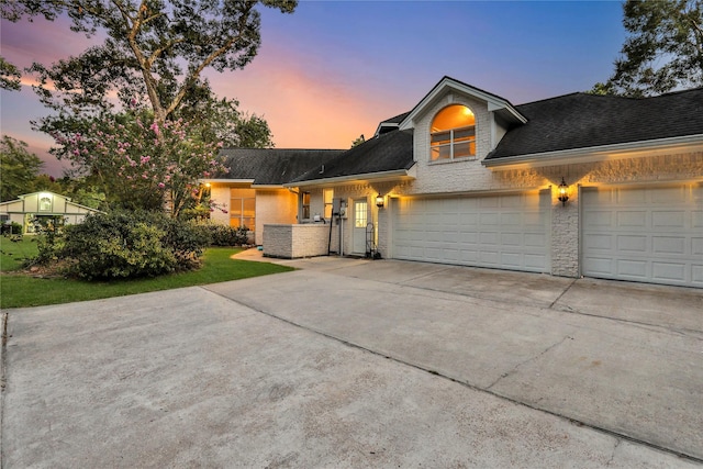
[[[466,105],[451,104],[432,121],[429,159],[476,157],[476,118]]]

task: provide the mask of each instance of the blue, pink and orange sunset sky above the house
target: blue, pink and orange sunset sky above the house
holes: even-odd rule
[[[614,1],[301,1],[263,9],[263,44],[244,70],[207,74],[220,97],[264,116],[277,148],[348,148],[412,109],[447,75],[513,104],[585,91],[613,69],[625,31]],[[2,21],[1,54],[19,67],[80,54],[67,21]],[[45,115],[32,89],[1,91],[3,134],[46,159],[33,132]]]

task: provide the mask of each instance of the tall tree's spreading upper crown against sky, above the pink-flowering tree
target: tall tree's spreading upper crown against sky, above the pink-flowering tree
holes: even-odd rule
[[[243,68],[260,44],[257,4],[290,13],[295,0],[0,0],[2,16],[68,15],[71,30],[102,44],[49,67],[34,64],[45,104],[76,111],[147,99],[163,124],[208,68]]]

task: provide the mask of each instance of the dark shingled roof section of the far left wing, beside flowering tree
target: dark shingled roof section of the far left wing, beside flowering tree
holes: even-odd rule
[[[254,179],[255,185],[282,186],[320,168],[344,149],[223,148],[225,179]]]

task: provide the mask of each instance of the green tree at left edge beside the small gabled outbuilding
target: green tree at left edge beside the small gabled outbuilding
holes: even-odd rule
[[[0,141],[0,200],[12,200],[34,190],[34,181],[42,168],[38,156],[30,153],[27,144],[2,135]]]

